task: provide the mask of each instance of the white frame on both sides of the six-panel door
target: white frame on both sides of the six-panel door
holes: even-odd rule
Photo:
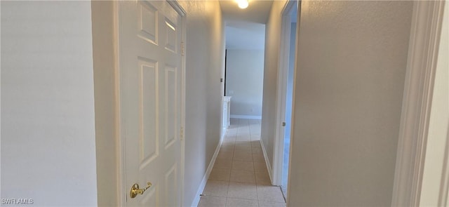
[[[187,12],[184,8],[179,4],[178,0],[166,0],[170,6],[172,6],[175,11],[180,15],[181,21],[182,21],[182,31],[181,31],[181,135],[180,135],[180,142],[181,142],[181,160],[180,160],[180,183],[181,183],[181,206],[184,202],[184,174],[185,174],[185,80],[186,80],[186,39],[187,39]],[[118,149],[117,149],[117,156],[119,161],[119,168],[118,168],[118,188],[117,188],[117,194],[118,194],[118,203],[120,206],[126,206],[126,201],[128,198],[128,188],[126,187],[126,166],[125,166],[125,139],[124,139],[124,131],[123,131],[123,120],[121,119],[121,102],[120,102],[120,48],[119,48],[119,1],[114,1],[114,36],[115,36],[115,53],[116,53],[116,76],[115,76],[115,90],[116,90],[116,102],[117,102],[117,108],[116,108],[116,117],[117,117],[117,123],[116,126],[116,134],[119,136],[119,142],[118,142]]]

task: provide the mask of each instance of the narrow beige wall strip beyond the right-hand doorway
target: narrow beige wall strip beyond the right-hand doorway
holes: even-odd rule
[[[274,131],[276,129],[276,88],[281,45],[281,12],[286,1],[273,1],[265,26],[264,86],[262,98],[262,131],[260,139],[267,152],[269,166],[273,165]]]

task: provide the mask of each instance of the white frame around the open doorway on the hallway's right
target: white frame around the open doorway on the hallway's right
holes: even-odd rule
[[[281,15],[281,45],[279,48],[279,71],[277,77],[276,89],[276,129],[274,131],[274,153],[273,153],[273,185],[281,185],[282,182],[282,163],[283,163],[283,140],[284,140],[284,126],[282,123],[286,121],[286,97],[287,97],[287,82],[288,82],[288,60],[290,56],[290,32],[291,32],[291,13],[293,6],[298,5],[298,15],[300,15],[300,1],[288,0],[284,5]],[[299,22],[297,22],[299,23]],[[296,36],[297,39],[297,36]],[[295,54],[297,53],[297,44],[295,44]],[[296,79],[296,55],[295,55],[295,72],[293,74],[293,98],[295,102],[295,79]],[[293,104],[294,105],[294,104]],[[292,109],[293,113],[293,109]],[[290,121],[290,124],[292,122]],[[291,145],[291,141],[290,141]],[[291,154],[291,152],[290,152]],[[289,155],[290,156],[290,155]]]

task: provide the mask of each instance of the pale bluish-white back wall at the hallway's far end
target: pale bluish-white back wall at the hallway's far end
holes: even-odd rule
[[[263,50],[227,50],[226,95],[231,115],[262,116]]]

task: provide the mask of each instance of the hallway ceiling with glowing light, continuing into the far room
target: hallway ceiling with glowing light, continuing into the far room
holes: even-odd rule
[[[248,8],[241,9],[236,1],[220,1],[226,24],[226,48],[263,49],[265,23],[267,23],[272,4],[273,1],[249,0]]]

